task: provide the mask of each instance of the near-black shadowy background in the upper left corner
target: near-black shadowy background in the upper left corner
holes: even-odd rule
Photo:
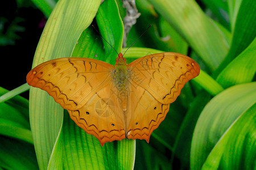
[[[46,20],[31,1],[0,2],[1,87],[13,90],[26,83]],[[28,99],[28,92],[22,96]]]

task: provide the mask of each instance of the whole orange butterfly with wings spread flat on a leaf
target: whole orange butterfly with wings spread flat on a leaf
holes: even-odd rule
[[[27,74],[27,83],[47,91],[75,123],[105,142],[149,142],[181,88],[200,73],[193,59],[158,53],[129,64],[122,53],[115,66],[91,58],[57,58]]]

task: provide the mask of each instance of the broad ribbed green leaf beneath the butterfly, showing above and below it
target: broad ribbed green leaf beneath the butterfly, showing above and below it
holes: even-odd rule
[[[110,9],[112,12],[109,11]],[[106,18],[112,18],[114,22]],[[122,20],[115,1],[106,1],[101,4],[96,21],[99,29],[103,30],[102,36],[117,51],[121,51],[123,27],[120,26]],[[105,48],[102,44],[105,44]],[[96,36],[93,29],[89,27],[82,32],[72,56],[96,58],[113,63],[117,53],[106,41],[101,40],[100,36]],[[134,158],[135,141],[123,139],[105,143],[102,147],[96,137],[85,133],[71,120],[68,113],[64,112],[63,128],[53,148],[48,168],[116,169],[118,167],[118,169],[133,169]]]

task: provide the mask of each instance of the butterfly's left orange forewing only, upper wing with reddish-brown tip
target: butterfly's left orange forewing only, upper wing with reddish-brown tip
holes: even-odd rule
[[[75,110],[108,84],[113,69],[96,59],[59,58],[32,69],[27,83],[47,91],[64,109]]]

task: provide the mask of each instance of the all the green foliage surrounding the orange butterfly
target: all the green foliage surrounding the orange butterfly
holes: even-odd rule
[[[117,54],[90,25],[125,52],[126,9],[121,0],[100,3],[17,0],[18,8],[37,7],[48,18],[33,66],[59,57],[114,64]],[[27,99],[16,96],[28,90],[27,84],[10,92],[0,88],[0,169],[256,168],[256,2],[137,0],[136,5],[141,16],[127,46],[152,27],[127,50],[127,62],[166,51],[187,54],[201,67],[150,143],[123,139],[101,147],[46,92],[31,88],[28,107]],[[15,45],[27,29],[22,22],[1,15],[0,45]]]

